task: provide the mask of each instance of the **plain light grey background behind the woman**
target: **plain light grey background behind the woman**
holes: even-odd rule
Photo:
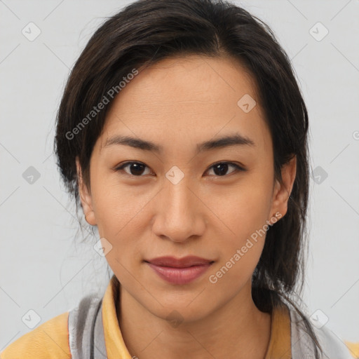
[[[0,351],[31,330],[22,321],[35,320],[30,309],[41,324],[107,287],[106,260],[78,244],[81,232],[75,238],[54,123],[69,69],[104,17],[129,2],[0,1]],[[311,179],[309,315],[320,309],[335,334],[359,341],[359,1],[237,3],[292,59],[309,109],[311,168],[327,172],[320,184]],[[22,34],[29,22],[41,29],[34,41]],[[309,32],[317,22],[329,30],[321,41]],[[29,166],[40,174],[33,184],[22,177]]]

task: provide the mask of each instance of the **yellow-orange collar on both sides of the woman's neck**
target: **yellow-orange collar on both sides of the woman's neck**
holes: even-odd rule
[[[108,359],[132,359],[123,341],[116,315],[118,297],[118,280],[111,277],[102,300],[102,323],[104,342]],[[292,358],[290,346],[290,313],[287,306],[276,307],[271,315],[271,337],[265,359]]]

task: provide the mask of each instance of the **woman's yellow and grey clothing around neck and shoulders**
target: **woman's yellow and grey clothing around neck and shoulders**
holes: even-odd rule
[[[76,308],[39,325],[7,346],[1,359],[131,359],[118,319],[118,281],[112,276],[103,298],[90,294]],[[265,359],[314,358],[313,344],[299,316],[287,306],[273,309],[271,339]],[[325,356],[353,359],[327,327],[315,328]],[[312,356],[311,356],[312,355]]]

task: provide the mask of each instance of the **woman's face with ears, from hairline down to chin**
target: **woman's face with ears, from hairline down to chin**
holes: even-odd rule
[[[111,105],[90,159],[90,189],[80,182],[83,211],[122,290],[158,317],[178,312],[191,321],[232,299],[252,300],[265,230],[285,215],[295,176],[292,161],[282,172],[287,190],[274,181],[271,135],[255,102],[238,62],[191,56],[144,69]],[[147,262],[190,255],[211,264]]]

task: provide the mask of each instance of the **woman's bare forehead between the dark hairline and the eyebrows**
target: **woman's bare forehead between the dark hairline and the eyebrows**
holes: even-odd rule
[[[168,144],[180,137],[196,144],[237,132],[256,137],[262,147],[270,145],[255,80],[240,62],[192,55],[166,58],[139,71],[112,102],[101,147],[114,133]],[[243,98],[257,104],[243,111]]]

